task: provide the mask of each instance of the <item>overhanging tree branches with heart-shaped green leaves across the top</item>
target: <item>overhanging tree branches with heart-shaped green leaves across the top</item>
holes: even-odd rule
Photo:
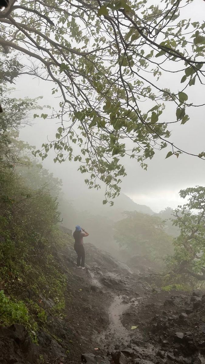
[[[50,115],[61,126],[36,153],[45,158],[54,147],[55,162],[74,158],[89,188],[107,185],[104,203],[119,194],[126,174],[121,157],[130,155],[146,169],[155,149],[169,145],[167,157],[178,158],[184,151],[169,139],[169,126],[185,124],[188,107],[204,106],[185,90],[204,82],[205,26],[183,13],[192,0],[158,3],[11,0],[0,12],[2,51],[25,55],[24,73],[52,81],[52,93],[62,94]],[[157,82],[161,75],[166,82]]]

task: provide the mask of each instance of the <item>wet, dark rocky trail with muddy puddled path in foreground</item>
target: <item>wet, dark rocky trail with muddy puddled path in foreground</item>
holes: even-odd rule
[[[203,292],[158,289],[150,267],[132,272],[90,244],[85,270],[71,246],[54,254],[68,277],[65,314],[47,317],[39,345],[21,325],[0,327],[0,363],[205,363]]]

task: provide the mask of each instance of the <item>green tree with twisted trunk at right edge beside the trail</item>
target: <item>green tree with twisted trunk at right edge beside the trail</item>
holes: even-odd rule
[[[179,195],[188,198],[183,206],[174,210],[173,225],[180,229],[174,239],[175,254],[169,259],[174,274],[189,275],[205,280],[205,187],[181,190]]]

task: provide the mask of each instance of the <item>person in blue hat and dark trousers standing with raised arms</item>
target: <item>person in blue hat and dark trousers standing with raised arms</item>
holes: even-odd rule
[[[78,255],[77,268],[85,269],[85,249],[83,246],[83,238],[89,236],[89,233],[82,229],[79,225],[76,226],[76,230],[73,233],[75,239],[74,249]]]

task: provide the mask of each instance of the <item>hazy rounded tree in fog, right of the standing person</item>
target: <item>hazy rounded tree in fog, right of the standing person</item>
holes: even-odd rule
[[[115,240],[133,255],[163,257],[172,251],[172,237],[165,233],[163,221],[154,215],[126,212],[115,223]]]

